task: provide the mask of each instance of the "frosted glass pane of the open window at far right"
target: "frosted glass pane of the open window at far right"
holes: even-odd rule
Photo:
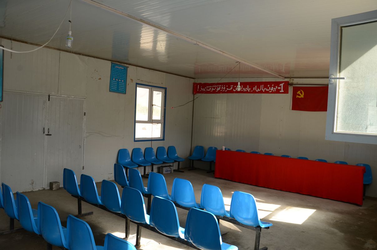
[[[377,134],[377,22],[342,27],[337,132]]]

